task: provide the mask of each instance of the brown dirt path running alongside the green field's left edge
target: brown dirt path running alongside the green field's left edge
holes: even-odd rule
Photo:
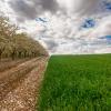
[[[21,70],[29,69],[30,65],[33,68],[33,70],[30,69],[27,74],[20,74],[21,78],[16,74],[18,68],[13,68],[7,72],[10,72],[10,74],[2,74],[3,77],[1,80],[6,81],[8,81],[7,77],[10,75],[9,80],[11,79],[11,82],[8,82],[9,84],[4,85],[4,89],[7,90],[8,87],[11,87],[11,89],[9,89],[10,91],[8,90],[3,97],[1,93],[2,98],[0,101],[0,111],[36,111],[39,88],[46,70],[47,60],[47,58],[40,58],[38,60],[31,60],[24,64],[20,64],[19,72]],[[24,67],[26,64],[27,68]],[[21,71],[21,73],[23,72]],[[20,79],[19,81],[17,80],[17,77]],[[0,84],[2,83],[6,84],[4,81],[0,82]]]

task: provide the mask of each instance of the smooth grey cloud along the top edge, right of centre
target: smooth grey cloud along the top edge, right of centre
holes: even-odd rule
[[[58,3],[71,14],[92,16],[103,11],[102,0],[58,0]]]

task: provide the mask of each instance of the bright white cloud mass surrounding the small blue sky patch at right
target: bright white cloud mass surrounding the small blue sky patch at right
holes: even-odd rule
[[[50,4],[51,8],[46,6],[47,11],[42,10],[43,12],[33,14],[33,17],[47,18],[48,23],[42,26],[36,22],[34,19],[28,19],[24,22],[18,22],[18,24],[23,31],[27,31],[48,48],[50,53],[111,52],[111,48],[109,48],[107,42],[98,40],[99,37],[111,34],[111,11],[105,10],[102,1],[103,0],[57,0],[58,7],[56,8],[58,9],[56,9],[54,12],[50,11],[56,3],[53,1]],[[11,1],[11,3],[13,1]],[[27,4],[33,6],[33,2],[29,0]],[[0,9],[16,23],[16,18],[19,18],[19,20],[22,19],[19,13],[16,13],[11,9],[8,0],[6,0],[6,2],[0,1]],[[32,8],[32,10],[34,9]],[[21,10],[19,9],[19,11]],[[81,29],[81,24],[87,18],[95,20],[94,28]]]

